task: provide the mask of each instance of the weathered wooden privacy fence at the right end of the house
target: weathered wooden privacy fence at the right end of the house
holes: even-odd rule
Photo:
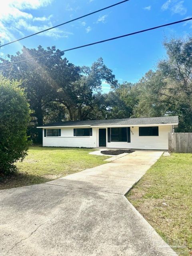
[[[192,132],[169,132],[169,152],[192,153]]]

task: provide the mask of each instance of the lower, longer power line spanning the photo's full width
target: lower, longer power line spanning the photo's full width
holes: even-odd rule
[[[132,35],[135,35],[135,34],[139,34],[139,33],[142,33],[142,32],[154,30],[154,29],[157,29],[157,28],[162,28],[162,27],[178,24],[178,23],[185,22],[185,21],[188,21],[188,20],[192,20],[192,18],[188,18],[188,19],[184,19],[184,20],[178,20],[178,21],[163,24],[163,25],[160,25],[160,26],[147,28],[147,29],[144,29],[144,30],[139,30],[139,31],[136,31],[136,32],[132,32],[132,33],[129,33],[129,34],[122,35],[122,36],[116,36],[116,37],[113,37],[113,38],[105,39],[105,40],[90,43],[90,44],[84,44],[84,45],[81,45],[81,46],[76,46],[74,48],[70,48],[70,49],[66,49],[66,50],[62,50],[62,51],[58,51],[58,52],[54,52],[54,53],[44,54],[44,55],[37,56],[37,57],[34,57],[34,58],[29,58],[29,59],[26,59],[26,60],[19,60],[19,61],[12,62],[12,63],[9,63],[9,64],[1,65],[0,67],[9,66],[9,65],[12,65],[12,64],[16,64],[16,63],[20,63],[20,62],[24,62],[24,61],[28,61],[28,60],[35,60],[37,58],[42,58],[42,57],[50,56],[50,55],[61,53],[61,52],[68,52],[68,51],[71,51],[71,50],[84,48],[84,47],[91,46],[91,45],[94,45],[94,44],[100,44],[100,43],[108,42],[108,41],[115,40],[115,39],[118,39],[118,38],[123,38],[123,37],[126,37],[126,36],[132,36]]]

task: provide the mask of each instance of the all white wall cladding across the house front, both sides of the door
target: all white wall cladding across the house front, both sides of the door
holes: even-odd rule
[[[131,127],[130,143],[107,142],[107,147],[168,150],[168,132],[172,132],[171,125],[159,126],[159,136],[139,136],[139,127],[134,126],[134,128]],[[98,128],[92,128],[92,133],[92,136],[86,137],[73,136],[73,127],[66,127],[61,128],[59,137],[44,137],[43,131],[43,146],[96,148],[98,147]]]

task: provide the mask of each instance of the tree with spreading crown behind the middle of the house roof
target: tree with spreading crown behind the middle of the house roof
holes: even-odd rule
[[[75,82],[64,83],[62,74],[54,74],[58,84],[57,101],[62,103],[68,112],[68,120],[85,120],[99,118],[101,108],[98,106],[98,92],[102,88],[102,81],[117,88],[117,80],[112,70],[106,67],[103,59],[99,58],[91,67],[82,67],[81,76]]]

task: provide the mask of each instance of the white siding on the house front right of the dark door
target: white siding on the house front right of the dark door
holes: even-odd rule
[[[172,126],[159,126],[159,136],[139,136],[139,127],[131,127],[131,142],[108,142],[108,148],[168,149],[168,132]]]

